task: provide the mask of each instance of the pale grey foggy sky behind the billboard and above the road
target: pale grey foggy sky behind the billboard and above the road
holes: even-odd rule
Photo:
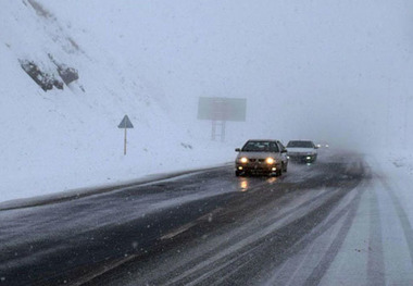
[[[80,3],[89,14],[79,22],[160,85],[166,110],[183,101],[168,112],[205,137],[209,124],[196,121],[201,96],[248,99],[247,123],[228,124],[242,140],[385,147],[412,133],[409,1],[128,0],[104,3],[110,18],[99,1]]]

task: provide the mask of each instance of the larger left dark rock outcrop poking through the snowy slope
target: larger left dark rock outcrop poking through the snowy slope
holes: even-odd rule
[[[63,83],[54,77],[52,74],[42,72],[36,63],[27,60],[20,61],[22,69],[32,77],[35,83],[45,91],[52,89],[63,89]]]

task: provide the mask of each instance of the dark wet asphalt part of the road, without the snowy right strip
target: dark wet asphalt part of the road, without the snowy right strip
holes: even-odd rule
[[[286,285],[286,261],[328,234],[300,282],[317,285],[368,179],[362,158],[330,153],[281,177],[223,166],[2,210],[0,285]]]

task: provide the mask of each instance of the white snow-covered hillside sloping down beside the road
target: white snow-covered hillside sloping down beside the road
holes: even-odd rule
[[[0,201],[233,159],[233,146],[205,141],[174,121],[170,109],[186,102],[168,102],[158,83],[139,76],[140,66],[42,2],[1,1]],[[71,16],[76,23],[85,14]],[[43,91],[22,61],[61,82],[57,63],[64,64],[79,78]],[[127,156],[117,128],[125,114],[135,125]]]

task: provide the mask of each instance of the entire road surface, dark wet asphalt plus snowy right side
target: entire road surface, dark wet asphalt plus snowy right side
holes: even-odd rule
[[[411,285],[411,174],[324,153],[0,211],[0,285]],[[5,283],[5,284],[4,284]]]

